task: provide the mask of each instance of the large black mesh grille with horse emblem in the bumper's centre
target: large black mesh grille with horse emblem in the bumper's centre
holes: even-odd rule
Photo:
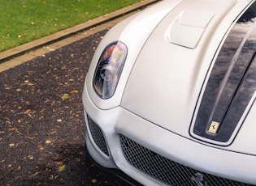
[[[124,156],[128,162],[155,180],[163,182],[163,184],[193,186],[249,185],[185,167],[180,163],[173,162],[148,150],[144,146],[137,144],[137,142],[133,142],[128,137],[124,137],[124,135],[120,135],[120,141]]]

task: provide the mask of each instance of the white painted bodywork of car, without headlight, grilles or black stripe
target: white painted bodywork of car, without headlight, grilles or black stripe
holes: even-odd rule
[[[255,105],[230,146],[189,135],[216,49],[237,16],[253,2],[166,0],[113,27],[94,54],[83,92],[85,119],[88,115],[102,129],[110,152],[110,156],[102,153],[88,133],[86,144],[93,159],[103,167],[124,171],[141,184],[162,185],[124,158],[119,140],[123,134],[184,166],[256,184]],[[202,19],[201,11],[206,15]],[[128,57],[115,95],[100,99],[93,90],[93,74],[102,50],[115,40],[127,44]],[[89,129],[87,119],[86,124]]]

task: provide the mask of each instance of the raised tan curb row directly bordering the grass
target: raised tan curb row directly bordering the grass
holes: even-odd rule
[[[124,7],[118,11],[114,11],[107,15],[102,15],[101,17],[98,17],[96,19],[91,19],[85,23],[80,23],[74,27],[67,28],[66,30],[55,32],[50,36],[45,36],[41,39],[33,40],[29,43],[22,44],[13,49],[8,49],[0,53],[0,64],[5,61],[9,61],[15,57],[24,55],[24,53],[28,53],[32,50],[39,49],[43,46],[46,46],[47,44],[52,44],[59,40],[63,40],[69,36],[76,35],[79,32],[84,32],[92,27],[97,27],[98,25],[101,25],[103,23],[110,22],[113,19],[118,19],[121,16],[128,15],[133,11],[137,11],[145,6],[150,6],[151,4],[158,1],[159,0],[143,0],[141,2],[132,4],[131,6]]]

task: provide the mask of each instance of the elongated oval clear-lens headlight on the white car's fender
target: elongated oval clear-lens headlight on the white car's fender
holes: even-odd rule
[[[127,53],[128,49],[121,41],[108,44],[103,50],[93,77],[94,90],[102,99],[114,95]]]

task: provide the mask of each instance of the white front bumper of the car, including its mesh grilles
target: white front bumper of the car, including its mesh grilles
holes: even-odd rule
[[[86,145],[102,167],[117,168],[145,185],[256,184],[255,156],[194,142],[121,107],[101,110],[86,89],[83,104]]]

